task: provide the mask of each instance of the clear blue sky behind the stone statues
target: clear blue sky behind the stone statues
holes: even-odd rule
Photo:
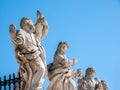
[[[20,19],[36,21],[40,10],[49,24],[47,37],[41,42],[52,62],[59,41],[67,41],[68,58],[76,57],[74,70],[93,66],[107,81],[109,90],[120,84],[120,0],[0,0],[0,76],[18,71],[9,25],[20,28]],[[44,87],[49,84],[46,78]]]

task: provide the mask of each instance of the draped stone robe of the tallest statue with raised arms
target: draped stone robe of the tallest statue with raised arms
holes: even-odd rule
[[[39,45],[40,36],[41,32],[20,29],[12,38],[15,56],[20,64],[19,72],[23,77],[21,90],[40,90],[46,76],[46,56]]]

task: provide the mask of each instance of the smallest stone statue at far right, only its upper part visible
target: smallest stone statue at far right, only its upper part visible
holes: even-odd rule
[[[78,90],[108,90],[105,81],[93,78],[95,74],[96,70],[93,67],[87,68],[85,77],[78,78]]]

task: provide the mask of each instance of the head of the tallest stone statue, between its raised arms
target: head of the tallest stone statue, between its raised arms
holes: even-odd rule
[[[30,18],[23,17],[20,21],[20,27],[24,30],[35,30],[35,26]]]

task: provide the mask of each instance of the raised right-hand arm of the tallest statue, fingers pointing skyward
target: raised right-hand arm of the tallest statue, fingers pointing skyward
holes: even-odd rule
[[[48,32],[48,24],[47,21],[44,19],[42,14],[37,11],[37,22],[35,24],[35,38],[38,42],[40,42]]]

